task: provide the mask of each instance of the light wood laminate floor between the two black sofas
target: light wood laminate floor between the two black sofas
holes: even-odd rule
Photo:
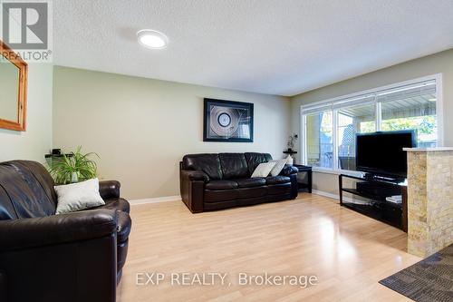
[[[181,202],[133,206],[118,302],[409,301],[378,284],[420,258],[406,234],[312,194],[297,200],[191,214]],[[159,286],[137,274],[166,274]],[[171,285],[170,274],[227,273],[214,286]],[[315,286],[241,286],[239,273],[315,275]],[[139,275],[141,276],[141,275]],[[193,276],[193,275],[192,275]],[[148,278],[140,280],[141,283]]]

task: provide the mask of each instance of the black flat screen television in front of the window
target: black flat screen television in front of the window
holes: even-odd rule
[[[392,178],[405,178],[408,157],[403,148],[416,147],[415,130],[357,134],[357,170]]]

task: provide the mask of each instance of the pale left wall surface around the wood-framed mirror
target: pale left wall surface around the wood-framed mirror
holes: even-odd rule
[[[27,129],[0,129],[0,161],[44,162],[44,154],[52,148],[52,76],[51,64],[29,64]]]

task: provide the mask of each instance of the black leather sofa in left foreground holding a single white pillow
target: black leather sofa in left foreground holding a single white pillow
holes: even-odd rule
[[[0,163],[0,301],[115,301],[130,204],[101,181],[105,205],[54,215],[53,179],[34,161]]]

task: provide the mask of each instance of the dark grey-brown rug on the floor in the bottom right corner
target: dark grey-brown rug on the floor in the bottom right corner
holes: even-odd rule
[[[451,301],[453,244],[379,283],[414,301]]]

